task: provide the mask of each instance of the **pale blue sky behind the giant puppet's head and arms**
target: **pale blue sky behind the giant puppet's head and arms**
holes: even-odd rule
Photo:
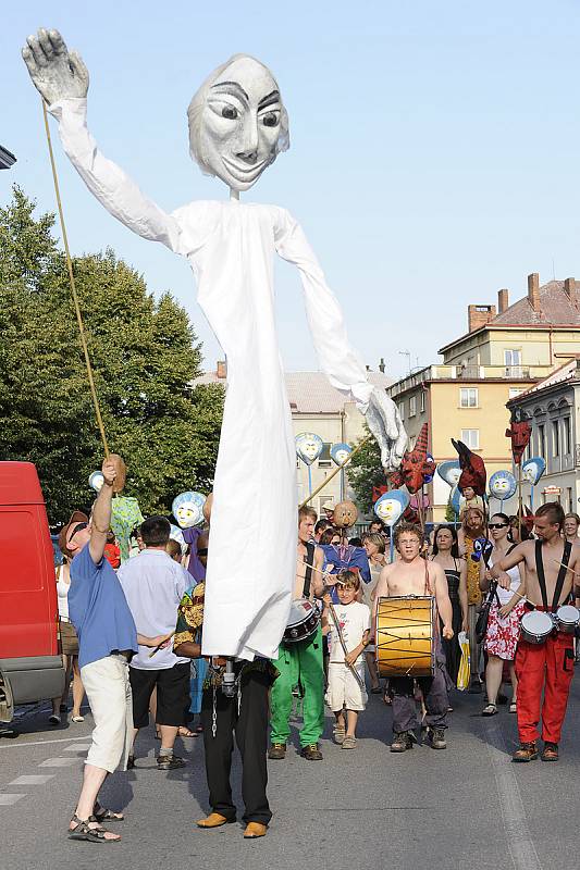
[[[160,206],[221,199],[222,183],[187,151],[185,111],[205,76],[237,51],[276,75],[291,150],[247,201],[289,209],[341,299],[365,361],[405,374],[436,362],[467,328],[469,302],[510,300],[526,276],[580,278],[580,5],[575,0],[486,3],[137,4],[28,0],[2,22],[0,142],[18,162],[0,173],[54,210],[39,98],[20,48],[57,27],[91,76],[89,126],[101,150]],[[149,289],[170,289],[220,355],[185,261],[144,241],[90,197],[60,151],[75,253],[116,253]],[[243,195],[244,196],[244,195]],[[288,370],[316,369],[299,279],[276,266],[280,343]]]

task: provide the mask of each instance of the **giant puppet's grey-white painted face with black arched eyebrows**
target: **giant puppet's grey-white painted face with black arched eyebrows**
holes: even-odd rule
[[[248,190],[275,160],[283,105],[272,74],[251,58],[233,61],[208,90],[201,119],[207,167]]]

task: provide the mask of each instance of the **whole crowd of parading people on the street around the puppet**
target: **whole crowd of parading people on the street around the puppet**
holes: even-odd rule
[[[514,760],[538,757],[540,720],[542,758],[558,758],[575,635],[555,627],[538,644],[520,636],[520,624],[532,609],[555,613],[572,599],[580,568],[576,514],[544,505],[532,534],[519,518],[489,517],[485,505],[468,499],[459,529],[444,523],[425,535],[419,525],[399,522],[392,547],[391,533],[379,521],[348,538],[344,525],[303,507],[293,613],[305,614],[296,621],[307,626],[304,635],[286,633],[274,660],[207,660],[201,638],[211,523],[186,530],[184,551],[170,538],[169,520],[150,517],[136,530],[131,558],[115,564],[109,533],[115,473],[114,462],[106,461],[91,517],[75,511],[59,538],[64,564],[57,584],[62,648],[73,676],[72,721],[82,721],[86,693],[95,722],[71,838],[120,838],[103,822],[123,816],[99,804],[99,791],[114,770],[138,768],[138,732],[151,719],[159,770],[186,763],[174,750],[178,734],[203,736],[210,811],[197,822],[200,829],[236,819],[230,783],[235,738],[247,838],[268,831],[268,759],[284,760],[297,704],[300,754],[308,761],[323,760],[325,708],[333,716],[334,742],[356,749],[368,691],[382,694],[391,707],[393,753],[407,751],[421,737],[433,749],[445,749],[462,636],[471,650],[469,691],[485,692],[482,716],[497,713],[508,700],[503,685],[511,683],[508,709],[517,716],[520,737]],[[433,601],[434,667],[421,675],[414,675],[412,667],[388,675],[375,657],[379,602],[409,597]],[[53,700],[53,724],[66,709],[69,681],[64,696]]]

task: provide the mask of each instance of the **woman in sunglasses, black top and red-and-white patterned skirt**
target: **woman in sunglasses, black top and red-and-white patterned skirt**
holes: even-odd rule
[[[509,517],[506,517],[505,513],[494,513],[488,527],[493,549],[489,567],[483,561],[480,563],[480,587],[482,592],[488,592],[490,588],[492,579],[490,568],[495,562],[504,559],[515,546],[511,544],[509,535]],[[504,661],[509,663],[509,674],[514,688],[509,712],[516,712],[518,681],[514,660],[519,638],[520,620],[523,613],[523,598],[520,596],[520,593],[523,592],[522,569],[519,566],[510,568],[507,575],[509,577],[509,588],[503,589],[498,585],[490,608],[490,619],[484,641],[485,651],[488,652],[488,667],[485,668],[488,705],[483,708],[482,716],[495,716],[497,712],[497,694],[502,685]]]

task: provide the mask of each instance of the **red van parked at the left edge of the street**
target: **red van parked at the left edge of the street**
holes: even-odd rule
[[[0,462],[0,722],[64,691],[54,557],[32,462]]]

